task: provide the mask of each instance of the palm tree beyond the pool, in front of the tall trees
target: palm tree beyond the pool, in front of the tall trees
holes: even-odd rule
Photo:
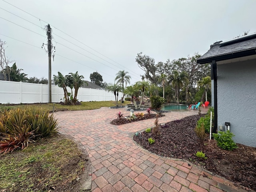
[[[182,71],[180,74],[178,71],[173,72],[173,80],[172,80],[172,87],[176,91],[176,96],[177,96],[177,103],[179,103],[179,93],[180,89],[183,87],[184,82],[187,81],[187,76],[188,74],[184,71]]]

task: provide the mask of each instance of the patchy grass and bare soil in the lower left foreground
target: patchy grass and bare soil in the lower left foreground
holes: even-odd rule
[[[58,135],[0,154],[0,191],[73,191],[85,160],[72,140]]]

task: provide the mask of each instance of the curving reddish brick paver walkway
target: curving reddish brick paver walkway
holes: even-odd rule
[[[206,109],[202,110],[206,112]],[[120,126],[110,124],[119,111],[125,116],[130,115],[125,108],[106,107],[54,113],[62,127],[60,132],[80,141],[89,154],[93,173],[92,192],[245,191],[187,161],[160,157],[136,146],[132,135],[152,127],[155,119]],[[165,113],[166,116],[159,118],[159,122],[181,119],[197,112]]]

